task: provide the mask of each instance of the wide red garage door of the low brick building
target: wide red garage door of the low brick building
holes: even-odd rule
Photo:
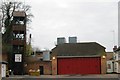
[[[100,74],[100,57],[58,58],[58,74]]]

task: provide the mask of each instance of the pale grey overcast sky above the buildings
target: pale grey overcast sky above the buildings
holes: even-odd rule
[[[118,0],[25,0],[34,15],[32,45],[55,47],[57,37],[76,36],[78,42],[98,42],[112,51],[118,44]]]

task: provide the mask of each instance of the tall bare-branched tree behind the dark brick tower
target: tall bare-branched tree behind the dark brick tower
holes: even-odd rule
[[[11,23],[14,11],[24,11],[26,13],[26,24],[31,22],[33,15],[30,13],[31,6],[24,5],[22,2],[3,2],[0,5],[0,31],[2,31],[3,47],[9,52],[11,41]]]

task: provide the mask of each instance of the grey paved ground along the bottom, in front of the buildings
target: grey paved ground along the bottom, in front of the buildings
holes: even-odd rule
[[[2,80],[120,80],[118,74],[10,76]]]

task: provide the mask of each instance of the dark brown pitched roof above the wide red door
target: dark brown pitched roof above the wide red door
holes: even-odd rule
[[[88,43],[65,43],[52,49],[57,56],[93,56],[105,53],[105,47],[96,42]]]

